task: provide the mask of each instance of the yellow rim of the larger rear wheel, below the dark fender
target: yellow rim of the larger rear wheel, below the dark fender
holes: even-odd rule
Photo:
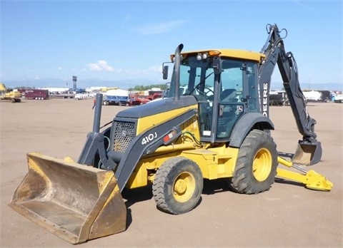
[[[272,154],[267,149],[257,151],[252,165],[252,172],[257,181],[263,182],[272,171]]]

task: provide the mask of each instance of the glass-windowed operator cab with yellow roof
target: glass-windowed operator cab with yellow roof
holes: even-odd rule
[[[229,141],[237,120],[244,113],[259,110],[257,61],[245,59],[245,53],[223,50],[181,54],[179,91],[197,99],[201,141]],[[237,58],[238,54],[244,59]],[[175,95],[174,84],[175,73],[168,97]]]

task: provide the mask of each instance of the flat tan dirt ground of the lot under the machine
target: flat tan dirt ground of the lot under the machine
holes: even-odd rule
[[[77,160],[92,130],[93,100],[1,102],[1,247],[72,247],[8,206],[27,172],[26,153]],[[103,106],[101,123],[123,108]],[[205,183],[202,202],[184,215],[156,209],[149,187],[124,196],[125,232],[78,247],[343,247],[343,104],[309,103],[322,142],[322,161],[307,167],[334,183],[331,192],[275,182],[259,195]],[[272,107],[278,150],[294,153],[301,135],[288,106]]]

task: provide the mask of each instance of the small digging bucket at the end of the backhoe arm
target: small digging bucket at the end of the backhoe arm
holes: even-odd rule
[[[292,162],[302,165],[314,165],[317,164],[321,158],[322,145],[319,141],[315,143],[305,143],[303,140],[299,140]]]

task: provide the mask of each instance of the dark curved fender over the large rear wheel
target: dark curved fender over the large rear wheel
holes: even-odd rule
[[[240,118],[234,125],[230,135],[229,146],[239,148],[242,145],[244,138],[252,129],[259,130],[274,130],[274,124],[267,116],[262,113],[249,112]]]

